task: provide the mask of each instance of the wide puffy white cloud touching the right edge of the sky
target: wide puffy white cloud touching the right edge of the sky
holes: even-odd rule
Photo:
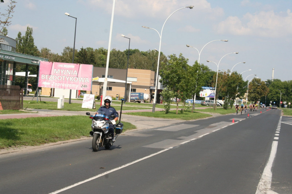
[[[216,27],[220,34],[251,35],[263,37],[283,37],[292,34],[292,13],[261,11],[256,14],[246,13],[243,18],[229,16]]]

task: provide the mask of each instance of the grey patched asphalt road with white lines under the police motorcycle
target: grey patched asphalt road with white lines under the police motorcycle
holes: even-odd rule
[[[132,131],[98,152],[87,139],[4,154],[0,193],[292,193],[291,123],[263,110]]]

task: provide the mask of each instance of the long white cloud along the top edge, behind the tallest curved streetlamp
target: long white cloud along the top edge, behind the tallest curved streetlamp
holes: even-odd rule
[[[103,8],[107,13],[112,13],[113,1],[104,0],[79,0],[80,3],[92,9],[97,7]],[[192,15],[204,14],[206,17],[217,17],[223,15],[222,8],[211,8],[211,4],[206,0],[119,0],[115,1],[115,16],[120,15],[124,17],[150,17],[165,20],[171,13],[179,8],[193,5],[191,11]],[[177,19],[179,15],[176,15]]]

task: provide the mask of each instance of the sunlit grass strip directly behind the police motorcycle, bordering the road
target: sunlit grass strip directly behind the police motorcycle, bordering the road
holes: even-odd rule
[[[123,122],[124,130],[136,127]],[[37,146],[45,143],[89,137],[88,116],[37,117],[0,120],[0,149]]]

